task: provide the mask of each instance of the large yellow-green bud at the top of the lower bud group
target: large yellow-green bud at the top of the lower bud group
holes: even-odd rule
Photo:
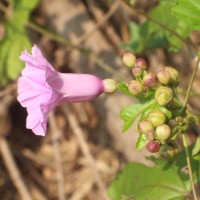
[[[165,114],[160,110],[153,110],[148,114],[147,120],[149,120],[154,127],[157,127],[165,123]]]

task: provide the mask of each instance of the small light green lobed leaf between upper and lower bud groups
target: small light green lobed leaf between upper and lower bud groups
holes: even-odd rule
[[[122,132],[127,131],[131,125],[136,120],[137,116],[142,114],[143,112],[147,112],[148,109],[155,103],[155,100],[152,99],[145,103],[137,103],[134,105],[130,105],[124,109],[122,109],[120,113],[120,118],[124,120],[124,125]]]

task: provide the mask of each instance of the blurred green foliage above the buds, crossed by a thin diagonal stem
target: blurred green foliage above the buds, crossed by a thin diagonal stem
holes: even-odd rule
[[[191,29],[171,14],[172,6],[173,1],[161,0],[159,5],[151,11],[150,17],[183,38],[187,38]],[[133,22],[130,29],[131,40],[122,47],[138,54],[155,48],[169,48],[171,51],[178,51],[181,48],[182,41],[151,20],[146,20],[140,26]]]

